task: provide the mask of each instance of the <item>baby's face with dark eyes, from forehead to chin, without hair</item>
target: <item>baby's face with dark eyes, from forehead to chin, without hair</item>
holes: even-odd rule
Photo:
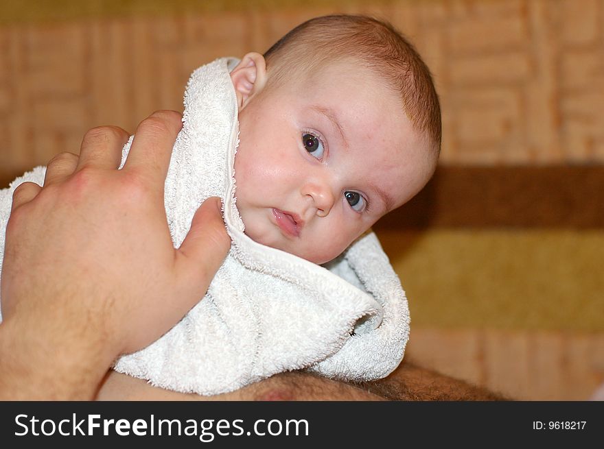
[[[314,263],[341,254],[432,174],[402,101],[351,63],[265,88],[239,121],[235,196],[246,234]]]

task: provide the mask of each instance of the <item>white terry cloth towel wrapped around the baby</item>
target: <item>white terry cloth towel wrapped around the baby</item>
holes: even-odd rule
[[[165,389],[202,395],[294,369],[343,380],[387,376],[404,355],[409,315],[399,279],[373,232],[325,266],[244,234],[233,178],[238,122],[229,71],[235,64],[221,58],[191,75],[184,126],[165,182],[174,247],[181,245],[198,206],[219,196],[231,251],[205,298],[163,337],[122,356],[114,368]],[[2,229],[12,190],[24,180],[42,184],[44,173],[37,167],[1,191]]]

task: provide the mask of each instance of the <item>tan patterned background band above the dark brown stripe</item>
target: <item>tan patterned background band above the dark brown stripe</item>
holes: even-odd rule
[[[180,109],[196,66],[328,12],[382,16],[416,43],[442,99],[443,163],[604,160],[602,0],[315,3],[1,27],[1,176],[76,151],[94,125]]]

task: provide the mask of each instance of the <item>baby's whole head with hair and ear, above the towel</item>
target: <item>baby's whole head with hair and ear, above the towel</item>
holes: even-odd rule
[[[325,263],[430,179],[439,100],[391,26],[363,16],[299,25],[231,72],[237,208],[259,243]]]

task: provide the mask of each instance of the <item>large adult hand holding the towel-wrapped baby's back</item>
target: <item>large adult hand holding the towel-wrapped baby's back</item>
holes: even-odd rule
[[[92,398],[119,354],[148,345],[205,295],[230,240],[209,199],[174,250],[163,191],[181,129],[176,112],[128,134],[90,130],[61,154],[44,186],[13,196],[2,268],[0,396]],[[15,387],[16,382],[16,388]]]

